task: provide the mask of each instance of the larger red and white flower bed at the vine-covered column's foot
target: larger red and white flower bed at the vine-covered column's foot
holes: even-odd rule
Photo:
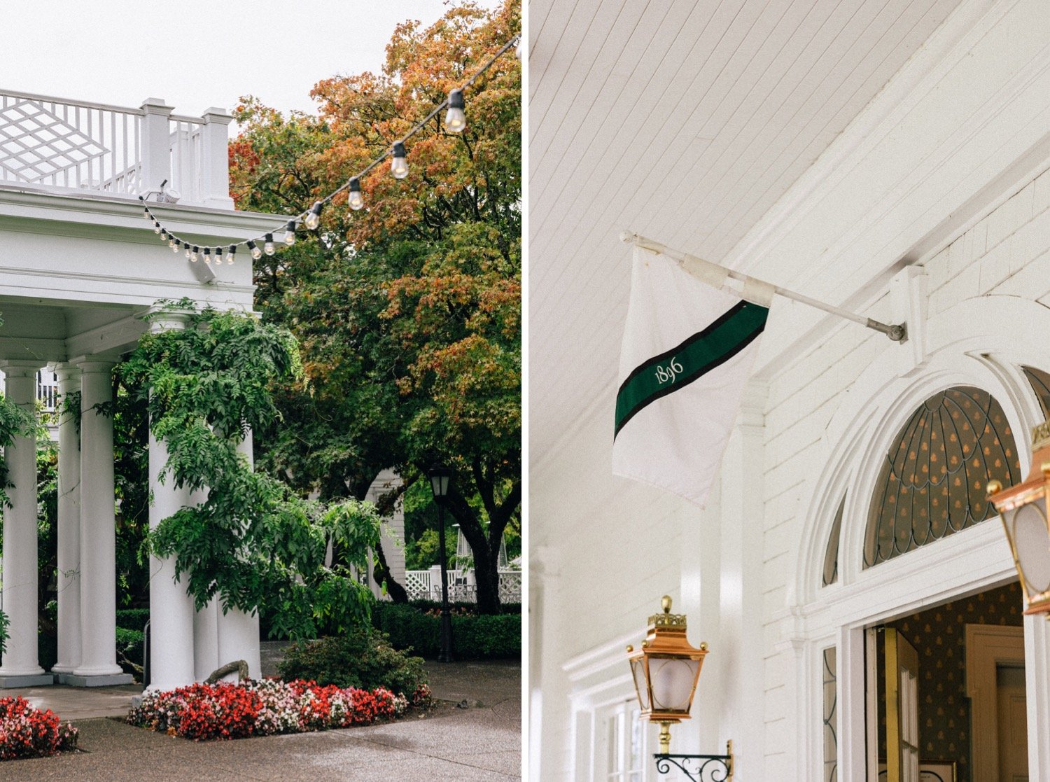
[[[248,679],[146,693],[127,721],[187,739],[240,739],[368,725],[399,717],[428,698],[425,684],[410,701],[384,688],[370,692],[301,679]]]

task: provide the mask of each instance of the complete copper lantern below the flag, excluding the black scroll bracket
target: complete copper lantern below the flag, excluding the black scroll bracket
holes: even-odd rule
[[[660,605],[664,613],[649,617],[642,648],[635,651],[628,647],[627,653],[642,716],[660,724],[660,753],[666,755],[671,742],[669,725],[689,719],[708,644],[691,647],[686,638],[686,615],[671,613],[668,595]]]

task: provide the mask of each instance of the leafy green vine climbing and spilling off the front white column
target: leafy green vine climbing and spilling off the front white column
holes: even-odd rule
[[[186,301],[164,310],[185,327],[145,334],[118,372],[167,445],[161,480],[206,499],[163,520],[151,550],[174,558],[197,608],[217,595],[224,611],[265,611],[273,632],[293,638],[366,621],[372,594],[355,570],[368,569],[379,540],[374,506],[307,501],[237,452],[249,429],[277,418],[275,386],[301,382],[295,338],[245,313]],[[330,544],[342,552],[334,566]]]

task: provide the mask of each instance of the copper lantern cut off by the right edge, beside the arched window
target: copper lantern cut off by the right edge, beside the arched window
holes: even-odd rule
[[[988,499],[1003,521],[1028,603],[1025,613],[1048,614],[1050,618],[1050,421],[1032,429],[1028,477],[1008,489],[999,481],[989,481]]]

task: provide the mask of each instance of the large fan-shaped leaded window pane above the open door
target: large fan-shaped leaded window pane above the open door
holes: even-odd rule
[[[1021,480],[1006,415],[980,388],[957,386],[919,406],[889,447],[867,516],[864,567],[990,519],[985,486]]]

